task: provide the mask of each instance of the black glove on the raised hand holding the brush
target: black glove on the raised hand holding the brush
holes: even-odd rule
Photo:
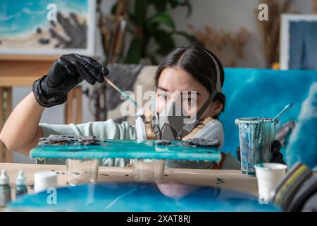
[[[49,69],[49,73],[32,85],[32,91],[39,105],[52,107],[67,101],[70,90],[82,81],[94,85],[103,83],[108,69],[91,57],[79,54],[61,56]]]

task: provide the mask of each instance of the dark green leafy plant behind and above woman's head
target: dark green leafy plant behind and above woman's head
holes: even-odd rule
[[[154,16],[148,16],[149,6],[154,7]],[[175,48],[174,35],[182,35],[189,42],[195,40],[186,32],[176,30],[175,22],[168,14],[168,6],[170,8],[186,6],[188,15],[192,12],[190,0],[135,0],[134,10],[130,13],[130,22],[134,28],[130,33],[134,38],[130,42],[125,63],[139,64],[142,57],[147,57],[152,64],[158,64],[156,57],[165,56]],[[153,41],[154,46],[152,46]]]

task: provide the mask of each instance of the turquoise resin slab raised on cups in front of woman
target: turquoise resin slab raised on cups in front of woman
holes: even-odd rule
[[[220,162],[218,148],[188,145],[186,141],[107,140],[94,145],[38,145],[30,152],[31,158],[134,158],[157,160],[197,160]]]

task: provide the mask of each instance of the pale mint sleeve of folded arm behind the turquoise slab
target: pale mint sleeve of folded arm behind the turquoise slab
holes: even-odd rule
[[[107,121],[90,121],[85,124],[56,125],[40,123],[44,137],[54,135],[96,136],[97,139],[135,140],[135,127],[124,121],[117,124],[113,119]],[[101,165],[125,167],[130,159],[103,159]],[[45,164],[65,164],[65,160],[46,159]]]

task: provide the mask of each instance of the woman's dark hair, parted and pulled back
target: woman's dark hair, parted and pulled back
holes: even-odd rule
[[[170,52],[170,54],[163,59],[162,63],[159,65],[159,69],[156,71],[155,88],[159,85],[159,78],[163,69],[178,66],[180,69],[191,74],[197,81],[199,81],[199,83],[201,83],[201,85],[204,85],[209,93],[212,93],[213,90],[216,89],[217,71],[216,65],[209,54],[211,54],[218,63],[220,82],[221,86],[223,86],[225,73],[219,59],[212,52],[203,47],[190,45],[173,50],[173,52]],[[216,100],[223,105],[223,112],[225,109],[225,95],[223,93],[217,93],[213,101]],[[213,118],[218,119],[218,115]]]

